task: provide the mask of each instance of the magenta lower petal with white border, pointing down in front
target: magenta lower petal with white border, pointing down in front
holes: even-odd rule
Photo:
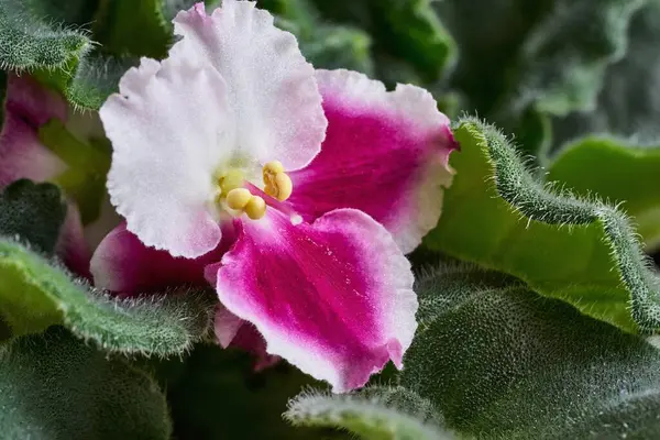
[[[267,343],[336,392],[402,366],[417,323],[410,265],[391,234],[353,209],[314,224],[268,210],[245,221],[217,266],[220,301]]]

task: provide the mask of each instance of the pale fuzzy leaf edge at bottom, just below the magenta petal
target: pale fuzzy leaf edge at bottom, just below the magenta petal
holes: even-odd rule
[[[306,392],[289,402],[284,417],[294,426],[345,429],[362,439],[441,440],[437,411],[403,387],[371,387],[352,395]]]

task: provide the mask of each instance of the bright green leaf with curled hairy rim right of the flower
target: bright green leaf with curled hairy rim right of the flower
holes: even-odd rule
[[[457,176],[428,246],[625,330],[660,328],[660,283],[620,211],[542,185],[494,127],[468,119],[455,135]]]

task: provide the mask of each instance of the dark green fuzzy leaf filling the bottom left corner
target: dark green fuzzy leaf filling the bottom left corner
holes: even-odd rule
[[[6,439],[169,439],[165,396],[143,372],[66,331],[0,348]]]

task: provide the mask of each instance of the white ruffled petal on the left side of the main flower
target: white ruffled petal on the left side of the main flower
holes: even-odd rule
[[[110,200],[148,246],[196,257],[220,242],[216,167],[231,128],[223,79],[177,59],[143,58],[100,110],[112,141]]]

